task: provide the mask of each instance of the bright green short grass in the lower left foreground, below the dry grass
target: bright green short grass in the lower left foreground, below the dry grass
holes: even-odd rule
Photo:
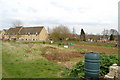
[[[27,63],[3,63],[3,77],[7,78],[57,78],[62,69],[46,60]]]

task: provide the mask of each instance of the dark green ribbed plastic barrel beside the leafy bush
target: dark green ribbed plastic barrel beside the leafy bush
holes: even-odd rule
[[[86,53],[84,69],[86,78],[99,78],[100,54],[94,52]]]

